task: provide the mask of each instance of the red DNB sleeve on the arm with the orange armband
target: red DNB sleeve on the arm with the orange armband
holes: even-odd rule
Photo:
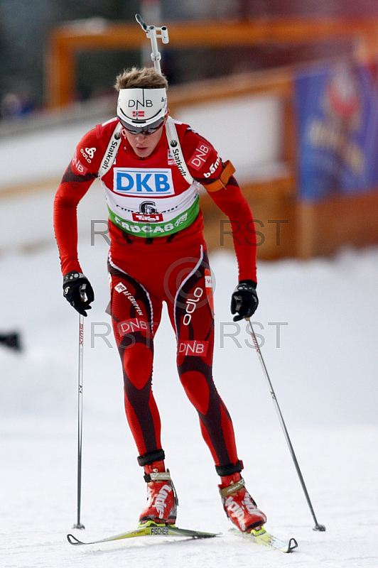
[[[217,151],[205,138],[188,129],[183,139],[183,153],[190,174],[205,188],[220,178],[224,164]],[[228,222],[221,222],[221,238],[232,234],[239,266],[239,280],[254,280],[257,283],[257,239],[251,208],[234,177],[226,187],[209,192],[217,207],[225,213]]]

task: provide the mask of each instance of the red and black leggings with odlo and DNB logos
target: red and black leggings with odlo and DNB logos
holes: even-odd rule
[[[143,256],[129,249],[121,262],[109,256],[112,324],[136,447],[141,456],[161,449],[161,420],[151,383],[153,337],[166,301],[177,339],[178,374],[198,411],[202,436],[216,466],[236,464],[231,417],[212,380],[214,315],[205,247],[193,246],[190,255],[178,257],[177,250],[174,256],[171,251],[150,252],[155,246],[146,247]]]

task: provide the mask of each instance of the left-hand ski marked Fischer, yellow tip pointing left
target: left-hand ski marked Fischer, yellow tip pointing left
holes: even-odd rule
[[[200,530],[190,530],[186,528],[178,528],[175,525],[163,525],[153,523],[151,520],[148,523],[139,525],[134,530],[127,530],[121,532],[119,535],[100,538],[99,540],[92,540],[84,542],[79,540],[74,535],[67,535],[70,545],[98,545],[101,542],[112,542],[114,540],[122,540],[124,538],[134,537],[187,537],[187,538],[213,538],[217,537],[219,533],[216,532],[202,532]]]

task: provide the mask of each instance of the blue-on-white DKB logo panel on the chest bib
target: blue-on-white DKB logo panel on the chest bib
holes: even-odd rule
[[[114,168],[114,192],[120,195],[174,195],[170,168]]]

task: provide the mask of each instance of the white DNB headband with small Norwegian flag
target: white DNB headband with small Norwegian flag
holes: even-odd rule
[[[166,89],[120,89],[117,116],[133,126],[148,126],[166,115]]]

